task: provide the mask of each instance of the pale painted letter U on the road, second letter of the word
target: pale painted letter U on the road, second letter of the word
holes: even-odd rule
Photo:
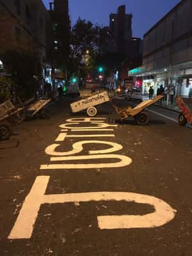
[[[95,169],[95,168],[118,168],[128,166],[132,163],[132,159],[128,156],[116,154],[103,154],[92,156],[66,156],[51,157],[51,161],[76,161],[76,160],[93,160],[93,159],[120,159],[116,163],[91,163],[91,164],[42,164],[40,170],[56,170],[56,169]],[[93,161],[92,161],[93,162]]]

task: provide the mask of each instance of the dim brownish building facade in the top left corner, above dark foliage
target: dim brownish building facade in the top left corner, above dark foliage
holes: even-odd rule
[[[0,51],[36,51],[45,63],[49,25],[49,13],[42,0],[0,0]]]

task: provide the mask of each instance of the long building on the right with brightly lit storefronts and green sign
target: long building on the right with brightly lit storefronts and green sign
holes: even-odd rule
[[[177,95],[192,91],[192,0],[182,0],[143,38],[143,65],[129,71],[142,79],[143,92],[150,86],[175,88]]]

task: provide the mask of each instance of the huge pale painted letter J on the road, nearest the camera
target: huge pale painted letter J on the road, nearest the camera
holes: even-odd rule
[[[128,192],[89,192],[45,195],[50,176],[38,176],[24,200],[15,225],[8,239],[30,239],[42,204],[66,204],[74,202],[134,202],[154,207],[154,212],[140,215],[97,216],[100,229],[156,228],[175,218],[176,211],[163,200],[154,196]]]

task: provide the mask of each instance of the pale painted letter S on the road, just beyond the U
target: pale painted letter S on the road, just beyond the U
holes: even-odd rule
[[[108,149],[104,150],[89,150],[89,154],[108,154],[112,152],[116,152],[121,150],[123,147],[120,144],[113,143],[110,141],[99,141],[99,140],[84,140],[84,141],[78,141],[72,145],[73,150],[67,151],[67,152],[56,152],[56,148],[60,147],[60,144],[52,144],[49,147],[45,148],[45,153],[50,156],[70,156],[77,153],[80,153],[83,151],[83,145],[84,144],[98,144],[98,145],[109,145],[111,146]]]

